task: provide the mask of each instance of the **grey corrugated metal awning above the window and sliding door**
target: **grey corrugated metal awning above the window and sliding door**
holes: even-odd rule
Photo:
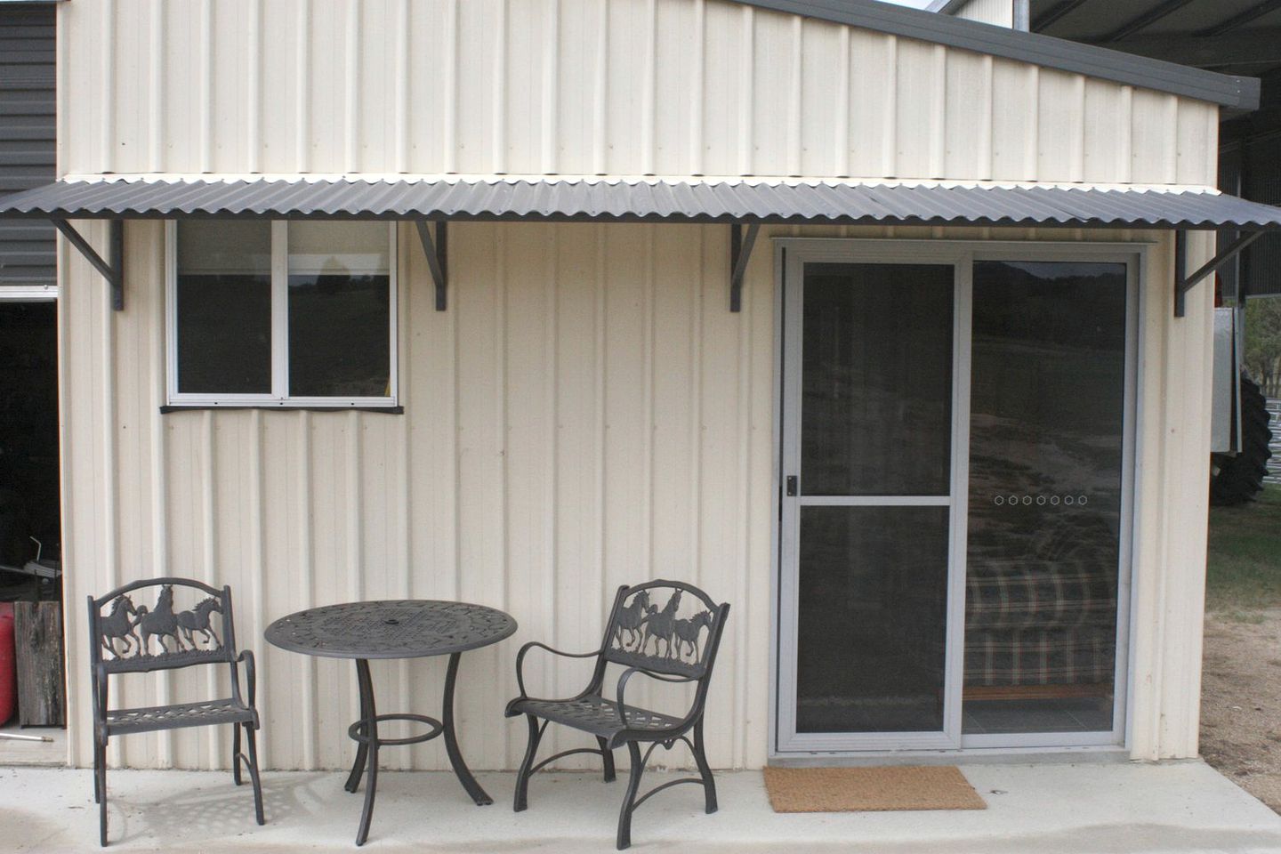
[[[1281,207],[1204,187],[698,178],[64,179],[0,198],[0,216],[1281,228]]]

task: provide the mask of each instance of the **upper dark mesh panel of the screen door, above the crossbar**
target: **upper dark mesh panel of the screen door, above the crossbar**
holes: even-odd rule
[[[947,495],[952,266],[806,264],[801,492]]]

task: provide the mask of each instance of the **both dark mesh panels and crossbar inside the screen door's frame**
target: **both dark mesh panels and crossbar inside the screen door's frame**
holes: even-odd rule
[[[953,279],[804,266],[797,732],[943,730]]]

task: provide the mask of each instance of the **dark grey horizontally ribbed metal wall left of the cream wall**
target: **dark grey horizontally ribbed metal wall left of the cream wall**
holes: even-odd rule
[[[0,196],[54,179],[54,6],[0,3]],[[54,284],[54,228],[0,218],[0,286]]]

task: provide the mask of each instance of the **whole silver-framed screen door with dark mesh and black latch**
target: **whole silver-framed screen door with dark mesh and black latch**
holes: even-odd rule
[[[779,749],[958,746],[968,266],[784,266]]]

